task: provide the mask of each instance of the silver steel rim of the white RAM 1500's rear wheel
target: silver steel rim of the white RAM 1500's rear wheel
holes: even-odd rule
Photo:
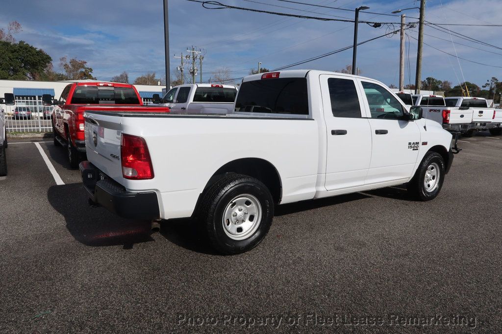
[[[249,194],[234,197],[223,211],[223,231],[233,240],[252,236],[262,221],[262,205]]]

